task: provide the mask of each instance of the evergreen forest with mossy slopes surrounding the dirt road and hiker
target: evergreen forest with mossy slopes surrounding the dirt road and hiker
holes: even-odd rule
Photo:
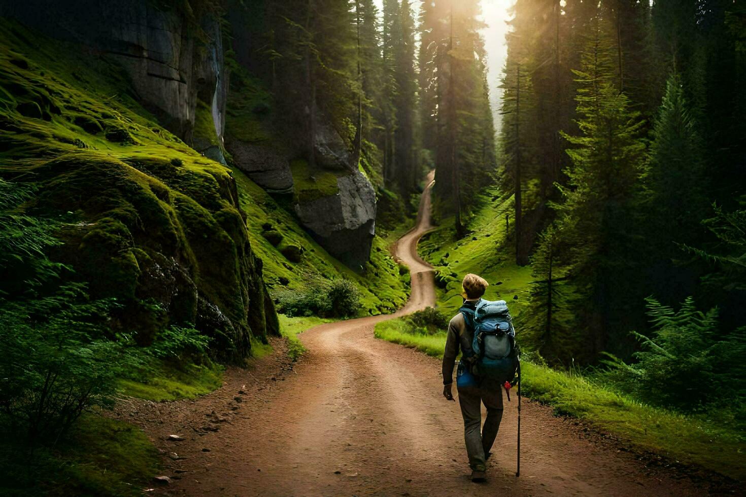
[[[132,412],[316,325],[442,357],[466,273],[530,398],[746,478],[746,7],[489,1],[0,5],[1,490],[134,495],[180,459]]]

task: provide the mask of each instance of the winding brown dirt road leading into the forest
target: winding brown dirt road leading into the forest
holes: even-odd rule
[[[430,177],[431,179],[431,177]],[[430,190],[416,229],[398,242],[412,269],[412,298],[394,315],[435,302],[430,267],[416,244],[430,226]],[[689,496],[703,490],[646,467],[613,443],[589,440],[577,422],[524,402],[521,476],[515,477],[516,402],[505,415],[486,484],[468,480],[463,421],[442,397],[440,362],[373,337],[392,316],[331,323],[301,335],[297,364],[281,354],[254,370],[230,370],[216,393],[194,402],[141,406],[164,452],[155,490],[193,496],[585,495]],[[281,341],[275,345],[281,346]],[[126,416],[125,416],[126,418]],[[152,421],[152,420],[151,420]],[[164,440],[178,433],[182,442]]]

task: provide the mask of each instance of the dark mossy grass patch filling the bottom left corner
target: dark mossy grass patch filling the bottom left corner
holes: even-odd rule
[[[67,440],[33,454],[13,439],[0,444],[0,495],[140,496],[160,455],[140,429],[86,414]]]

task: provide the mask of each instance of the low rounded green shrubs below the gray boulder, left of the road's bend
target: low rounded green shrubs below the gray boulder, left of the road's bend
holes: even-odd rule
[[[360,290],[348,279],[315,281],[302,291],[281,291],[277,307],[289,317],[351,317],[360,311]]]

